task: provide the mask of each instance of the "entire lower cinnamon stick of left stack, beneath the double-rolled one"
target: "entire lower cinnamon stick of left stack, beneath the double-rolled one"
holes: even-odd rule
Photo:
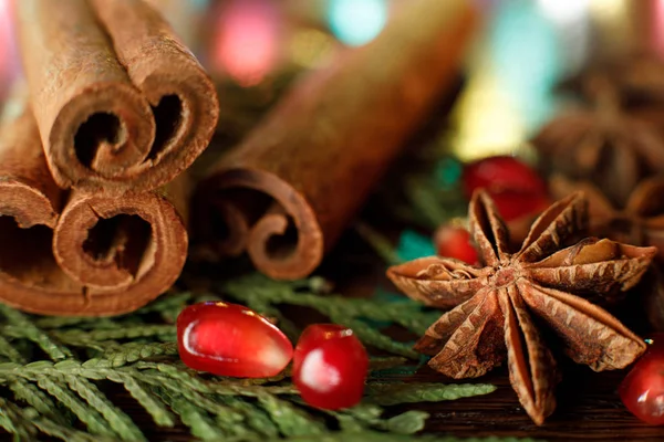
[[[49,173],[32,113],[14,106],[0,127],[0,301],[101,316],[165,292],[187,254],[175,192],[68,194]]]

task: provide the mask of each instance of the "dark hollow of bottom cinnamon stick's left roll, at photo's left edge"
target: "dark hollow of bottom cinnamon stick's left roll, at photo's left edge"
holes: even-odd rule
[[[46,225],[21,229],[12,217],[0,215],[0,272],[49,292],[77,291],[55,262],[52,241],[53,231]]]

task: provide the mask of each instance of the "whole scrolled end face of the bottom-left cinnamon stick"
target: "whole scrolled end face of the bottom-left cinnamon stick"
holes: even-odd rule
[[[27,312],[133,312],[168,290],[185,264],[183,220],[156,193],[114,199],[74,192],[56,224],[55,218],[34,219],[29,229],[14,212],[0,217],[0,299]]]

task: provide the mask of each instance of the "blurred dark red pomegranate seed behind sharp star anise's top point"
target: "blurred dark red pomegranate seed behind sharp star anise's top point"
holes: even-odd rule
[[[544,181],[530,166],[508,156],[488,157],[466,165],[461,182],[468,197],[480,188],[491,193],[505,190],[547,193]]]

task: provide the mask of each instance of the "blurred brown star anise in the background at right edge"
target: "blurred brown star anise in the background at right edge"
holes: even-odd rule
[[[531,141],[550,169],[595,183],[622,206],[641,179],[664,171],[664,113],[625,112],[613,85],[594,80],[593,107],[553,118]]]

